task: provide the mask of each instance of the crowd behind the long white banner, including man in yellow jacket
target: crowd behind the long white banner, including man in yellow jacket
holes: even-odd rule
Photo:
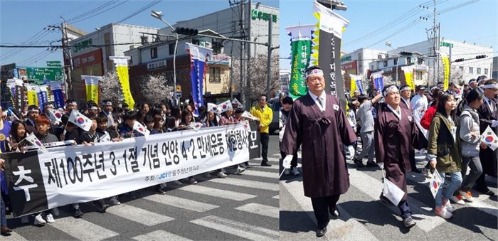
[[[148,102],[142,102],[136,109],[128,109],[126,104],[115,108],[115,105],[110,100],[104,100],[101,105],[89,101],[80,108],[81,114],[84,114],[91,120],[91,127],[85,131],[77,124],[70,121],[71,112],[73,109],[78,110],[78,103],[74,100],[67,100],[64,109],[55,109],[53,104],[48,102],[43,105],[43,112],[36,105],[28,107],[26,113],[18,113],[16,109],[9,108],[8,111],[2,113],[0,120],[0,150],[1,152],[10,151],[26,151],[30,148],[31,143],[26,141],[26,136],[33,133],[42,144],[49,144],[58,141],[71,141],[75,144],[91,145],[98,141],[122,141],[123,139],[132,138],[135,136],[143,136],[134,128],[135,122],[139,122],[144,127],[147,127],[150,134],[161,134],[166,132],[181,131],[184,129],[192,129],[193,123],[201,123],[203,127],[216,127],[222,125],[238,124],[246,119],[243,117],[245,110],[240,106],[240,102],[236,99],[233,105],[228,105],[226,109],[206,108],[205,106],[198,108],[198,114],[194,116],[194,106],[185,105],[183,107],[170,107],[167,102],[161,102],[157,105],[151,105]],[[193,104],[193,102],[190,102]],[[211,104],[210,104],[211,105]],[[210,106],[208,105],[208,106]],[[259,122],[261,155],[263,160],[261,166],[271,166],[267,159],[267,149],[269,140],[268,126],[272,122],[272,109],[267,106],[266,95],[261,95],[258,100],[258,105],[250,109],[250,114]],[[55,117],[60,115],[59,117]],[[57,122],[57,119],[60,122]],[[250,119],[248,119],[250,120]],[[0,159],[1,160],[1,159]],[[243,164],[232,166],[234,174],[240,174],[248,168],[249,163],[246,161]],[[11,212],[9,200],[9,188],[6,186],[4,173],[4,160],[0,162],[1,167],[1,234],[8,235],[11,229],[6,223],[6,211]],[[203,173],[206,178],[211,178],[211,173]],[[225,168],[216,171],[218,178],[226,178],[227,173]],[[190,184],[196,184],[194,176],[184,180]],[[182,185],[181,181],[174,181],[176,185]],[[166,183],[161,183],[154,187],[154,191],[159,194],[166,194]],[[142,190],[123,193],[129,198],[139,198]],[[105,213],[105,210],[110,205],[120,205],[119,196],[112,196],[100,200],[95,200],[93,203],[100,213]],[[73,212],[75,218],[81,218],[83,212],[78,203],[69,205],[69,209]],[[55,223],[54,216],[59,215],[58,208],[46,210],[33,215],[33,225],[45,225],[46,223]],[[21,217],[21,223],[28,223],[28,215]]]

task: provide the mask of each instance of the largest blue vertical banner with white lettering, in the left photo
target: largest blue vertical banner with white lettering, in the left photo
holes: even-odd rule
[[[186,43],[186,51],[190,54],[190,80],[192,84],[192,97],[194,99],[194,114],[198,115],[198,107],[204,105],[203,82],[206,76],[208,56],[213,55],[211,48],[204,48],[192,43]]]

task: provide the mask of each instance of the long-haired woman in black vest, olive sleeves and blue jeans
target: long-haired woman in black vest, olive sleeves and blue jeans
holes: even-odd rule
[[[438,170],[443,182],[446,182],[445,173],[451,177],[446,189],[443,191],[443,188],[439,188],[435,196],[434,212],[445,219],[452,217],[454,209],[450,198],[462,183],[462,158],[455,109],[455,95],[451,92],[443,93],[438,102],[438,112],[430,123],[427,149],[430,166]]]

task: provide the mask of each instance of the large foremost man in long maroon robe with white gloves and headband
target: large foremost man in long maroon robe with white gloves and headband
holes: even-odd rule
[[[346,156],[342,150],[356,134],[346,119],[339,100],[324,91],[323,71],[318,66],[306,70],[309,92],[298,98],[290,110],[280,151],[285,153],[284,168],[290,168],[292,154],[302,145],[302,183],[304,196],[312,199],[317,218],[317,236],[327,232],[329,213],[339,217],[336,203],[349,188]],[[344,145],[344,146],[343,146]]]

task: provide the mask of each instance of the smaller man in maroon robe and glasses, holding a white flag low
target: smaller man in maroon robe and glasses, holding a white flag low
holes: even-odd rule
[[[396,85],[384,87],[382,94],[385,102],[378,108],[375,123],[375,151],[376,161],[381,168],[386,169],[386,178],[405,192],[398,203],[405,227],[413,227],[415,221],[411,218],[410,207],[406,202],[406,172],[411,171],[410,150],[412,147],[420,149],[427,140],[420,137],[418,129],[413,123],[411,112],[401,108],[400,93]],[[419,143],[419,140],[421,143]],[[413,146],[415,144],[415,146]],[[386,197],[381,200],[388,202]],[[392,203],[391,203],[392,204]]]

